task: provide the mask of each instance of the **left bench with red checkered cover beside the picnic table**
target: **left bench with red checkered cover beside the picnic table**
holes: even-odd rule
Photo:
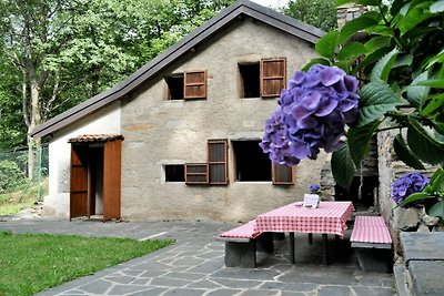
[[[225,242],[226,267],[256,267],[256,251],[272,253],[273,233],[254,232],[255,220],[220,234],[218,241]]]

